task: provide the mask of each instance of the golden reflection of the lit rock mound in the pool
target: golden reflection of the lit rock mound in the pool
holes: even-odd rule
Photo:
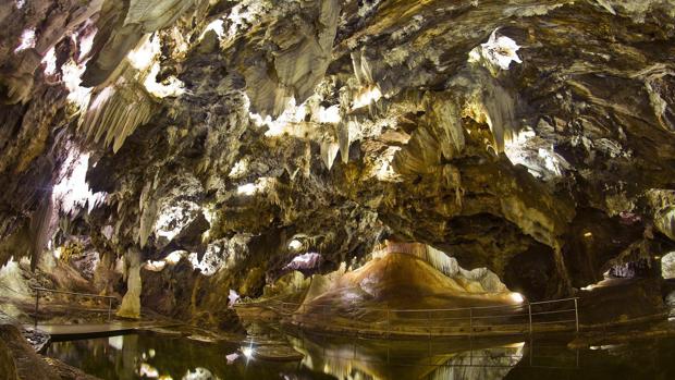
[[[524,342],[355,341],[290,338],[303,365],[338,379],[502,379],[523,358]],[[506,341],[508,342],[508,341]]]

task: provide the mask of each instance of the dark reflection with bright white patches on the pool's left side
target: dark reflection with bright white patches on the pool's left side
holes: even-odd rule
[[[52,343],[47,355],[110,380],[279,379],[297,363],[261,363],[241,354],[236,343],[205,343],[151,332]]]

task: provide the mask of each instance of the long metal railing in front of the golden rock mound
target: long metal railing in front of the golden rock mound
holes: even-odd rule
[[[347,330],[378,334],[472,335],[579,331],[578,297],[520,305],[465,308],[393,309],[335,307],[319,303],[260,304],[289,318],[292,324],[329,329],[327,318]],[[319,318],[320,317],[320,318]],[[315,323],[319,320],[319,323]],[[323,322],[323,323],[321,323]]]

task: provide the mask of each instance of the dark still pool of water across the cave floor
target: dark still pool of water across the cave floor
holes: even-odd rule
[[[110,380],[125,379],[675,379],[675,340],[568,350],[569,336],[373,341],[285,336],[304,355],[266,361],[235,343],[139,334],[52,343],[48,356]],[[246,346],[244,346],[246,347]],[[260,348],[261,350],[261,348]],[[143,375],[145,373],[145,376]]]

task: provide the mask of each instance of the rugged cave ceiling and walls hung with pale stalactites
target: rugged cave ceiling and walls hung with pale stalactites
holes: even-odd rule
[[[11,0],[0,26],[2,261],[86,235],[273,277],[388,237],[553,295],[673,249],[673,0]]]

